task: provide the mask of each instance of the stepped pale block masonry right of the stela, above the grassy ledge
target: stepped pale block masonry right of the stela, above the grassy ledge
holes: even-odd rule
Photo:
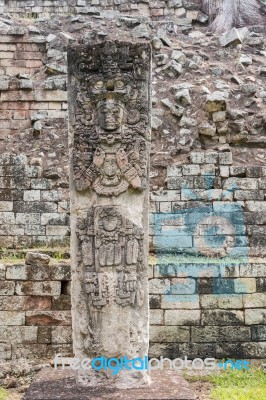
[[[191,154],[151,193],[151,249],[205,256],[265,255],[262,166],[233,166],[231,152]]]

